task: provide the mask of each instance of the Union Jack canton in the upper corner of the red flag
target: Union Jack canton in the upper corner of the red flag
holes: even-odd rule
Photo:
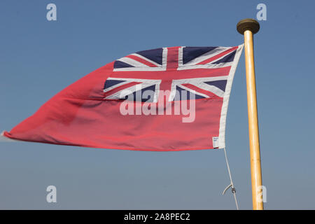
[[[114,62],[104,84],[104,99],[128,99],[134,94],[132,99],[139,101],[136,94],[146,90],[154,96],[141,98],[142,102],[158,102],[160,90],[169,90],[169,102],[223,98],[240,47],[157,48],[127,55]],[[183,92],[188,92],[186,97]]]

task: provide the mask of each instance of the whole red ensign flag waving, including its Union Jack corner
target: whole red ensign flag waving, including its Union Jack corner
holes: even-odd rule
[[[2,135],[136,151],[225,148],[243,45],[144,50],[92,71]]]

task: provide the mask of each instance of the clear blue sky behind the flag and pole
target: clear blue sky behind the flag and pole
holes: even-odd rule
[[[55,3],[57,21],[46,20]],[[0,1],[0,130],[90,71],[132,52],[232,46],[255,35],[265,209],[315,209],[314,1]],[[251,209],[244,53],[230,96],[227,151],[240,209]],[[222,150],[137,152],[0,143],[0,209],[235,209]],[[57,187],[57,203],[45,200]]]

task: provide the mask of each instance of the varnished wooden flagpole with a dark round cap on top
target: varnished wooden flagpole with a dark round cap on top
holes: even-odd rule
[[[260,146],[257,116],[257,99],[255,84],[255,62],[253,56],[253,34],[257,33],[260,26],[256,20],[245,19],[237,23],[237,31],[244,35],[246,87],[248,106],[248,132],[251,154],[251,191],[253,197],[253,210],[263,210],[262,203],[262,178],[260,167]]]

